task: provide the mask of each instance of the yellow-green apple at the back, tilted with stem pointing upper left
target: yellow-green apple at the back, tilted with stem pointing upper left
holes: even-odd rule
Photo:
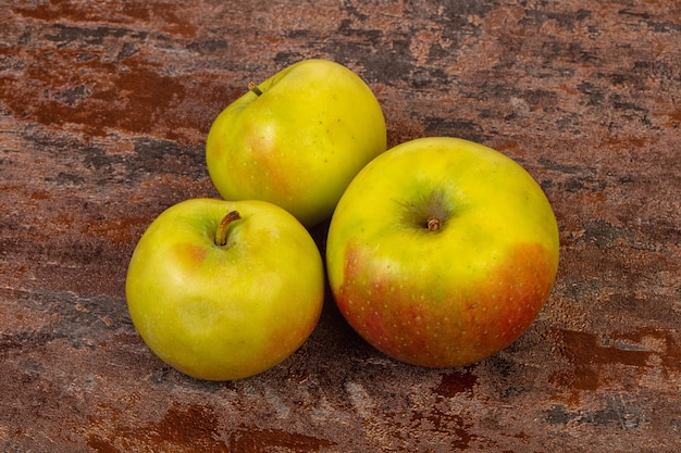
[[[381,105],[349,68],[295,63],[236,99],[207,138],[210,177],[225,200],[264,200],[306,227],[331,217],[352,177],[386,149]]]

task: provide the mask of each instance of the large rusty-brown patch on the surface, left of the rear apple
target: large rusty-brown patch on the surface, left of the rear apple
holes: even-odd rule
[[[23,50],[9,52],[20,58]],[[76,88],[74,74],[81,74]],[[15,115],[44,126],[104,137],[111,130],[157,134],[179,142],[202,141],[216,114],[232,99],[219,80],[169,76],[138,58],[122,64],[103,51],[83,58],[57,49],[27,65],[20,78],[0,86]]]

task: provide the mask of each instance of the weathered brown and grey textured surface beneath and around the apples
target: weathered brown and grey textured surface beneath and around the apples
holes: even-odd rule
[[[216,197],[218,113],[312,56],[369,83],[389,146],[458,136],[541,183],[560,270],[510,348],[410,367],[327,300],[250,379],[146,349],[124,298],[137,239]],[[2,1],[0,451],[679,451],[680,62],[673,0]]]

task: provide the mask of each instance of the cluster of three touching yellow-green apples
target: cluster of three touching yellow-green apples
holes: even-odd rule
[[[207,138],[223,200],[169,207],[140,238],[126,297],[149,349],[189,376],[262,373],[311,335],[325,277],[350,326],[396,360],[481,361],[535,319],[558,269],[536,181],[471,141],[386,151],[367,84],[298,62],[230,104]],[[324,261],[308,228],[331,217]]]

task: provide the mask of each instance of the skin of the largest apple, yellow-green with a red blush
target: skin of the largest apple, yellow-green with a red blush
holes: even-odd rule
[[[439,219],[439,228],[428,227]],[[559,257],[534,179],[462,139],[421,138],[369,163],[333,214],[329,281],[340,313],[399,361],[456,367],[500,351],[533,323]]]

